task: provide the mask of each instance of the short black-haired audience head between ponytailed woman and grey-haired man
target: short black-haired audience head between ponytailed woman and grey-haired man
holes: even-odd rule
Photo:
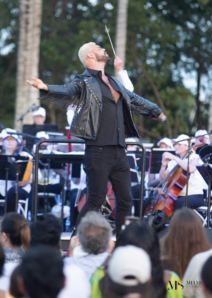
[[[48,244],[60,248],[61,223],[52,214],[44,214],[31,224],[31,246]]]

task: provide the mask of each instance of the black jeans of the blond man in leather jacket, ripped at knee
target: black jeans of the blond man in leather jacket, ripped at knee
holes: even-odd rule
[[[124,218],[130,215],[132,202],[130,165],[123,147],[87,146],[84,156],[87,174],[88,198],[79,212],[76,227],[88,210],[99,211],[107,194],[107,181],[111,181],[116,196],[116,236],[120,234]]]

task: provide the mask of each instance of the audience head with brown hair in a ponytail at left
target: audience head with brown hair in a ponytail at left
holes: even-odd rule
[[[29,250],[30,229],[24,215],[16,212],[6,213],[1,219],[0,231],[3,246],[16,248],[23,245],[26,251]]]

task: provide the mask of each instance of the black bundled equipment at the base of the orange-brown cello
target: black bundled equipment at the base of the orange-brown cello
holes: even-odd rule
[[[165,224],[169,223],[169,216],[163,210],[156,210],[144,215],[142,221],[152,226],[156,232],[160,232],[165,227]]]

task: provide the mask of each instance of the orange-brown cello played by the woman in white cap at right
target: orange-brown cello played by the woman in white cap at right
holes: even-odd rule
[[[202,145],[194,145],[191,147],[191,149],[196,150],[197,147]],[[182,159],[185,159],[186,157],[188,157],[188,151],[185,153]],[[174,211],[174,203],[177,200],[179,193],[186,185],[186,179],[186,171],[177,164],[158,184],[158,194],[152,198],[152,201],[146,208],[144,215],[156,210],[164,210],[166,215],[170,217]],[[163,185],[162,188],[158,189],[158,187],[161,185]]]

